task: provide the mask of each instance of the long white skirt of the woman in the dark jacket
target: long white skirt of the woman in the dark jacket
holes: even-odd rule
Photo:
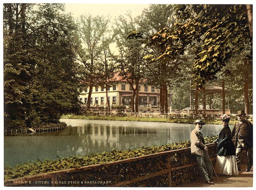
[[[215,172],[222,175],[238,175],[236,156],[219,156],[215,161]]]

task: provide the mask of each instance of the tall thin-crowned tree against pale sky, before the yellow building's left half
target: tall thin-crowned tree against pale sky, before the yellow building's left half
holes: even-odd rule
[[[111,39],[108,34],[110,18],[97,15],[81,15],[76,21],[78,29],[75,43],[76,59],[81,63],[81,89],[89,87],[87,108],[90,108],[90,97],[93,86],[103,86],[106,73],[110,77],[107,66],[107,55]],[[108,52],[108,53],[107,53]]]

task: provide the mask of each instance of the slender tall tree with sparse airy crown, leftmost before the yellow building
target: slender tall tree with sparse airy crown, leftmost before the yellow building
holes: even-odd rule
[[[82,83],[89,86],[87,108],[90,109],[91,92],[93,86],[102,81],[104,68],[97,60],[102,51],[102,36],[108,30],[109,18],[104,16],[93,17],[81,15],[77,21],[79,33],[79,47],[76,49],[76,59],[84,65],[84,80]]]

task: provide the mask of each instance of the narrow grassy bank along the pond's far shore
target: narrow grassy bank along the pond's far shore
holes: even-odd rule
[[[132,116],[82,116],[82,115],[65,115],[63,119],[92,119],[92,120],[113,120],[113,121],[146,121],[146,122],[169,122],[169,123],[184,123],[193,124],[195,119],[170,119],[170,118],[146,118],[146,117],[132,117]],[[206,119],[206,124],[221,124],[218,119]],[[235,124],[235,120],[231,120],[231,125]]]

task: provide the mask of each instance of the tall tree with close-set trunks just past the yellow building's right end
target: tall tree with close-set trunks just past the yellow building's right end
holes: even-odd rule
[[[151,5],[138,17],[139,31],[149,39],[160,29],[174,26],[175,20],[173,5]],[[162,48],[159,44],[145,47],[145,51],[150,55],[144,57],[148,61],[143,65],[143,71],[145,71],[147,82],[160,88],[160,112],[167,113],[168,86],[178,85],[178,82],[182,81],[180,70],[184,65],[182,65],[182,58],[154,59],[162,54]]]

